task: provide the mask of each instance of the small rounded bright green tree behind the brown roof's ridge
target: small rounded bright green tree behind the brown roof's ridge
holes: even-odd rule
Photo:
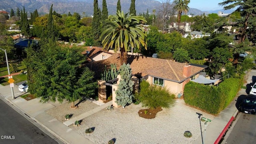
[[[174,51],[173,57],[177,62],[189,62],[190,57],[188,56],[188,51],[183,48],[177,48]]]

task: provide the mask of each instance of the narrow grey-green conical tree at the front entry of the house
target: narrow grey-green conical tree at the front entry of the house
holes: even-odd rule
[[[123,64],[120,66],[121,80],[116,90],[116,103],[121,105],[123,108],[126,104],[132,103],[132,94],[134,82],[132,81],[132,68],[130,64]]]

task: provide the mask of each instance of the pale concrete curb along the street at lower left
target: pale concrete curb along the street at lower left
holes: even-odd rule
[[[12,106],[15,106],[18,110],[20,110],[22,113],[24,113],[26,116],[28,116],[31,120],[34,120],[34,122],[36,122],[37,124],[39,124],[40,126],[42,126],[44,129],[46,129],[48,132],[50,132],[52,135],[56,136],[56,138],[58,138],[59,140],[61,140],[63,143],[65,144],[71,144],[70,142],[68,142],[68,140],[62,138],[59,134],[57,134],[56,132],[54,132],[53,130],[51,130],[50,128],[44,126],[44,124],[42,124],[38,119],[36,119],[35,117],[31,116],[30,114],[24,112],[24,110],[22,108],[20,108],[19,106],[17,106],[16,104],[14,104],[12,102],[12,100],[5,98],[4,96],[2,96],[0,94],[0,96],[6,100],[7,102],[9,102]],[[1,98],[1,99],[2,99]],[[23,115],[22,115],[23,116]],[[57,141],[56,141],[57,142]]]

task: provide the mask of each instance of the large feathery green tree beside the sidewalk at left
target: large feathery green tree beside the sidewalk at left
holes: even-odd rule
[[[86,60],[80,48],[50,42],[42,44],[40,50],[30,48],[28,51],[31,62],[27,60],[26,65],[35,64],[32,93],[40,102],[68,100],[71,107],[75,107],[76,100],[94,94],[97,88],[97,82],[93,82],[94,72],[80,68]]]

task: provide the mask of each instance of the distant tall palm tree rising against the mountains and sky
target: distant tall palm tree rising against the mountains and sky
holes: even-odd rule
[[[190,0],[174,0],[172,4],[174,4],[172,10],[173,12],[178,12],[178,23],[180,23],[180,17],[182,12],[184,14],[188,13],[189,7],[188,4],[190,3]]]

